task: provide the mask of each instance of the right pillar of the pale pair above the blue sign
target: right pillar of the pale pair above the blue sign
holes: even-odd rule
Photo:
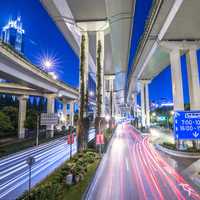
[[[200,87],[196,48],[190,48],[186,53],[187,73],[190,95],[190,109],[200,110]]]

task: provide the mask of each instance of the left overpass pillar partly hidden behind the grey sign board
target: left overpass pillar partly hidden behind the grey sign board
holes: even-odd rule
[[[47,113],[54,113],[55,95],[47,95]],[[47,125],[47,137],[54,136],[54,125]]]

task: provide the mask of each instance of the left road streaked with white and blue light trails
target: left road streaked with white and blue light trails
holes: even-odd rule
[[[93,129],[88,140],[91,141],[94,136]],[[72,155],[76,152],[75,138]],[[26,160],[29,157],[35,158],[35,164],[32,166],[33,187],[70,158],[70,145],[67,144],[66,137],[63,137],[0,159],[1,200],[14,200],[28,190],[29,167]]]

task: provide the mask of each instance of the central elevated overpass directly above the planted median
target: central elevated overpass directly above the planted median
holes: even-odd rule
[[[41,0],[41,3],[77,55],[80,54],[81,35],[86,36],[88,71],[94,79],[97,41],[101,40],[104,51],[102,80],[104,75],[115,76],[116,105],[124,104],[135,0],[84,0],[84,3],[81,0]],[[105,90],[106,83],[102,85]],[[105,96],[105,91],[102,93]]]

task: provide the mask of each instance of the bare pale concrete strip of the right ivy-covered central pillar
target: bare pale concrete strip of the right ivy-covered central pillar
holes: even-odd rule
[[[98,49],[98,42],[101,42],[101,95],[102,95],[102,107],[101,107],[101,115],[102,117],[105,116],[105,102],[104,102],[104,98],[105,98],[105,83],[104,83],[104,31],[98,31],[96,33],[96,50]]]

